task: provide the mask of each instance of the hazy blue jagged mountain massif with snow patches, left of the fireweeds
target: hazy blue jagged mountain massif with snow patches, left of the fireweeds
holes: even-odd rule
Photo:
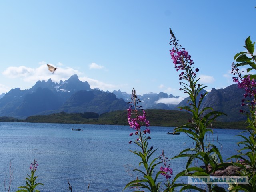
[[[0,98],[0,116],[26,118],[36,114],[58,112],[96,112],[128,108],[127,102],[113,93],[90,88],[74,74],[66,81],[54,83],[51,79],[38,81],[32,88],[15,88]]]

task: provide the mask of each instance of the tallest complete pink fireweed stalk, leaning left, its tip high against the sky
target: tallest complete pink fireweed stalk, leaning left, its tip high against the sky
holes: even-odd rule
[[[202,90],[206,88],[206,86],[202,86],[198,83],[198,80],[200,80],[200,78],[197,78],[196,75],[199,72],[199,69],[193,66],[194,62],[190,54],[178,43],[178,40],[176,40],[176,37],[174,36],[172,30],[170,30],[170,34],[170,45],[173,46],[170,50],[170,56],[172,58],[176,71],[181,71],[179,74],[179,79],[181,80],[180,85],[182,85],[180,91],[184,91],[184,94],[189,95],[189,105],[180,107],[180,109],[188,110],[192,113],[192,119],[183,126],[175,128],[174,132],[186,133],[195,143],[195,148],[187,148],[180,152],[180,154],[178,154],[177,156],[173,157],[187,157],[188,161],[186,163],[185,170],[178,173],[174,178],[172,182],[172,189],[180,187],[180,191],[186,189],[205,191],[204,189],[194,185],[184,183],[176,184],[175,182],[181,176],[210,176],[210,174],[214,173],[215,170],[222,166],[218,164],[218,161],[216,160],[216,156],[218,156],[220,163],[223,163],[222,156],[218,148],[206,139],[206,134],[213,134],[213,130],[212,128],[209,128],[209,126],[214,119],[224,113],[214,111],[211,107],[201,107],[202,100],[208,92],[202,93]],[[193,167],[192,162],[194,162],[195,160],[198,161],[198,164],[204,165],[205,168],[199,166]],[[211,184],[207,184],[206,188],[208,192],[219,192],[220,190],[223,190],[223,188],[220,188],[218,186],[212,187]]]

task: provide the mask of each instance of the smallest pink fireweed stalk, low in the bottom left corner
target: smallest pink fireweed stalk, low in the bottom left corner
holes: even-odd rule
[[[31,175],[28,175],[26,177],[26,186],[20,186],[20,190],[17,190],[16,192],[40,192],[39,190],[35,189],[38,185],[44,185],[42,183],[36,183],[37,176],[34,176],[36,170],[38,167],[37,160],[35,159],[34,162],[30,165],[30,171]]]

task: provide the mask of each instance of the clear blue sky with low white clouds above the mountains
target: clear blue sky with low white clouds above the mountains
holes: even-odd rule
[[[77,74],[91,88],[179,91],[172,28],[208,90],[231,84],[244,40],[256,40],[255,0],[44,0],[0,2],[0,93]],[[46,64],[58,69],[51,74]]]

